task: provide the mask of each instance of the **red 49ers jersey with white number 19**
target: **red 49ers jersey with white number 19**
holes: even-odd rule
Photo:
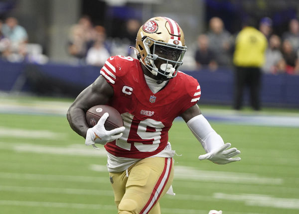
[[[197,80],[182,72],[153,94],[141,62],[132,57],[110,57],[101,74],[114,90],[108,105],[121,113],[126,128],[120,139],[105,145],[109,153],[118,157],[146,158],[162,151],[174,118],[200,98]]]

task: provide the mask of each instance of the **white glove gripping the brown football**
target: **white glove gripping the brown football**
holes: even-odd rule
[[[114,141],[123,135],[121,132],[125,130],[124,126],[112,129],[110,131],[105,129],[104,123],[108,116],[109,113],[104,113],[99,119],[98,123],[94,127],[87,130],[85,145],[89,146],[95,143],[105,145],[106,143]]]

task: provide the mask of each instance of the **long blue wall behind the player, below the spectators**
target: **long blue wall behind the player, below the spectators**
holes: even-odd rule
[[[231,69],[183,72],[198,80],[202,92],[199,103],[232,105],[234,76]],[[100,69],[93,66],[0,61],[0,91],[75,98],[99,75]],[[248,105],[248,100],[246,90],[245,105]],[[299,76],[264,74],[261,101],[268,107],[299,107]]]

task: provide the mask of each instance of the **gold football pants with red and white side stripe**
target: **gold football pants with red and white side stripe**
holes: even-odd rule
[[[149,157],[128,172],[109,173],[118,214],[160,214],[159,199],[173,180],[172,158]]]

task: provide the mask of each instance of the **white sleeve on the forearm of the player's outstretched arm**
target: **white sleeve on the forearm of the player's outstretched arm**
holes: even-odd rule
[[[224,145],[222,137],[216,133],[202,114],[191,118],[187,122],[187,126],[199,140],[206,152],[213,151]]]

